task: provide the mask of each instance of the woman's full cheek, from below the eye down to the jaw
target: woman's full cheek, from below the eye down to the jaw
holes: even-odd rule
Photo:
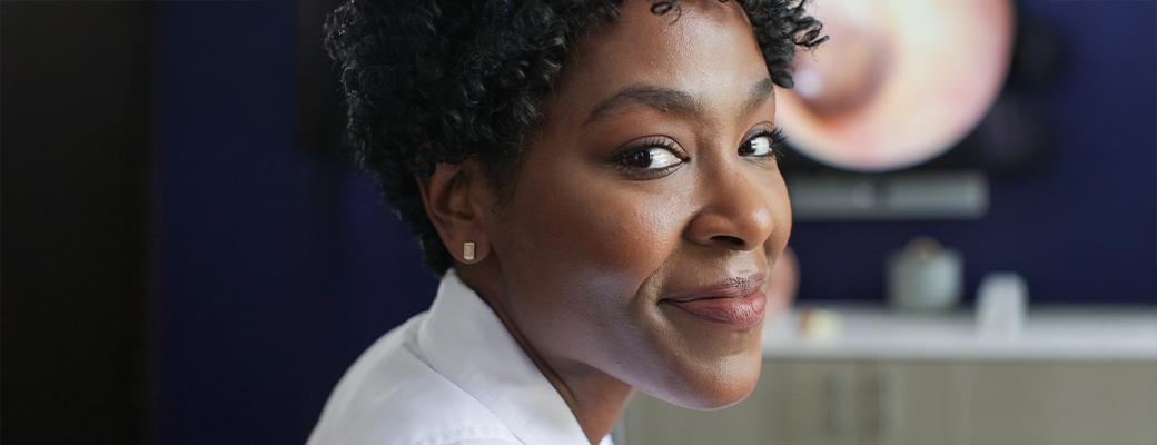
[[[653,303],[640,285],[677,247],[687,200],[580,173],[525,179],[535,193],[511,200],[495,246],[522,327],[551,343],[544,349],[633,338],[614,333],[639,327]]]

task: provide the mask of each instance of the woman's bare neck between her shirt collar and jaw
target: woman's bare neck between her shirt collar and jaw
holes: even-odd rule
[[[484,262],[458,265],[458,276],[494,310],[518,346],[559,392],[578,421],[587,440],[598,444],[614,428],[634,394],[634,387],[588,364],[539,354],[511,320],[506,310],[506,301],[496,298],[504,295],[501,282],[487,279],[501,275],[484,270]]]

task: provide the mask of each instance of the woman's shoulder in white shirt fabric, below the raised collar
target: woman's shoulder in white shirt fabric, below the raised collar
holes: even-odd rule
[[[418,348],[425,314],[376,341],[338,383],[308,445],[521,444]]]

